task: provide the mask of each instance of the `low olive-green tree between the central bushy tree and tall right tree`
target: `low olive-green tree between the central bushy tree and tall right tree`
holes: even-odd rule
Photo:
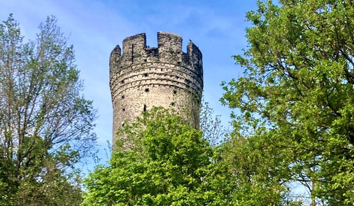
[[[289,187],[274,171],[278,158],[263,150],[265,142],[256,138],[233,137],[222,144],[222,163],[233,175],[233,199],[241,206],[299,206],[289,197]]]

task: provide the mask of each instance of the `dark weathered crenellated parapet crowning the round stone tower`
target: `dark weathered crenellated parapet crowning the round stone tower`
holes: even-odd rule
[[[116,68],[124,69],[132,64],[146,62],[165,62],[184,66],[192,66],[203,75],[203,58],[199,48],[189,41],[187,53],[182,52],[182,37],[169,32],[157,32],[157,48],[147,47],[146,34],[140,33],[123,40],[123,52],[119,45],[112,51],[111,59],[119,65]],[[112,63],[112,61],[110,61]]]

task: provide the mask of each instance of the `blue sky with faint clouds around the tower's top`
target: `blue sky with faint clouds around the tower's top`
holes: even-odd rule
[[[247,45],[245,13],[255,7],[256,0],[0,0],[0,20],[13,13],[23,35],[34,39],[46,16],[58,18],[74,45],[84,95],[98,109],[95,132],[103,147],[112,139],[109,55],[125,37],[142,32],[150,47],[157,47],[157,31],[180,34],[184,51],[188,39],[199,46],[205,100],[227,127],[231,111],[219,102],[220,83],[242,75],[231,56]]]

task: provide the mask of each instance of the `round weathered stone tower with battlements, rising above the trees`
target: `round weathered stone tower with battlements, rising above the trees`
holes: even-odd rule
[[[147,47],[146,35],[141,33],[123,40],[123,53],[119,45],[111,53],[114,134],[124,126],[125,119],[136,118],[153,106],[185,108],[190,111],[187,118],[199,124],[203,91],[201,51],[190,41],[187,53],[182,52],[181,36],[168,32],[157,32],[157,45]]]

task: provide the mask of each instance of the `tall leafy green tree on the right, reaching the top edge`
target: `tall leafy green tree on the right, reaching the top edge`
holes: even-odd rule
[[[235,56],[244,75],[222,84],[235,132],[281,155],[269,170],[313,206],[354,204],[353,18],[352,0],[258,2]]]

